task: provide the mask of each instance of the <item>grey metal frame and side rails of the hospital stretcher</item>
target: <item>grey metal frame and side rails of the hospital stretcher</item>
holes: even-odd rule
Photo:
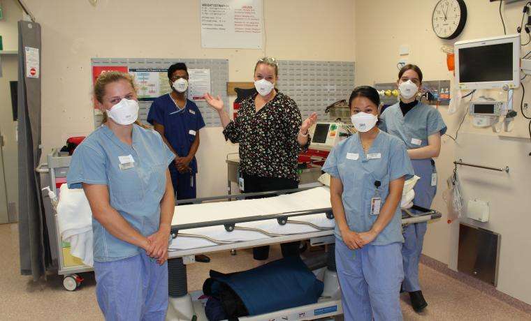
[[[313,188],[313,187],[312,187]],[[182,203],[194,203],[198,204],[201,202],[212,202],[220,200],[230,200],[230,199],[242,199],[245,197],[252,196],[274,196],[282,195],[286,193],[296,193],[300,191],[305,191],[309,188],[296,188],[291,190],[282,190],[282,191],[271,191],[271,192],[262,192],[262,193],[246,193],[246,194],[237,194],[237,195],[224,195],[217,197],[203,197],[190,200],[179,200],[177,204]],[[414,211],[412,211],[414,210]],[[328,207],[325,209],[312,209],[307,211],[293,211],[287,213],[279,214],[270,214],[265,216],[251,216],[245,218],[234,218],[231,220],[222,220],[222,221],[203,221],[200,223],[194,224],[182,224],[182,225],[172,225],[171,234],[175,239],[177,235],[181,234],[183,236],[189,236],[182,231],[196,228],[196,227],[208,227],[208,226],[218,226],[223,225],[228,232],[231,232],[238,227],[238,223],[246,223],[249,221],[263,221],[270,219],[277,219],[277,222],[280,225],[287,223],[305,223],[290,220],[290,218],[296,218],[297,216],[305,216],[310,214],[324,214],[328,219],[333,219],[332,208]],[[431,221],[437,218],[441,218],[442,214],[434,209],[425,209],[414,205],[411,209],[402,209],[402,226]],[[310,223],[311,224],[311,223]],[[195,255],[198,254],[207,254],[214,253],[219,251],[233,251],[242,248],[253,248],[256,246],[266,246],[272,244],[280,244],[291,241],[302,241],[305,239],[310,239],[311,246],[320,246],[327,244],[335,244],[334,228],[326,228],[318,230],[317,232],[305,232],[298,234],[289,234],[268,237],[265,239],[257,239],[252,241],[222,241],[221,244],[214,246],[205,246],[201,248],[191,248],[186,250],[176,250],[170,248],[168,250],[168,259],[182,258],[183,264],[191,264],[195,262]],[[322,268],[320,271],[314,273],[324,273]],[[201,301],[201,296],[203,292],[201,290],[194,291],[189,293],[191,299],[191,306],[194,308],[194,317],[193,318],[182,318],[182,314],[179,311],[180,304],[183,303],[180,298],[170,297],[170,304],[168,306],[168,315],[166,315],[166,320],[176,321],[176,320],[207,320],[205,316],[205,308],[203,306],[204,301]],[[204,299],[203,299],[204,300]],[[295,308],[289,308],[281,311],[274,311],[272,313],[266,313],[262,315],[254,315],[248,317],[238,318],[242,321],[263,321],[263,320],[314,320],[317,318],[327,318],[333,317],[334,315],[342,314],[342,304],[340,297],[321,297],[316,304],[309,304],[306,306],[298,306]]]

